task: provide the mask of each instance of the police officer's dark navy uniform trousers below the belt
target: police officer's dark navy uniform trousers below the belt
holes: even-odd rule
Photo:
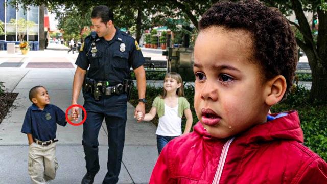
[[[117,183],[121,169],[127,120],[127,97],[103,96],[95,101],[89,94],[84,94],[84,108],[87,118],[83,124],[83,147],[88,173],[96,174],[99,169],[98,135],[103,119],[108,131],[108,172],[103,183]],[[83,113],[83,118],[85,114]]]

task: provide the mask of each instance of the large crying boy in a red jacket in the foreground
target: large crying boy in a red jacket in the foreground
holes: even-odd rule
[[[268,115],[297,63],[283,15],[259,1],[219,2],[194,47],[194,131],[162,150],[150,183],[326,183],[327,164],[303,146],[296,111]]]

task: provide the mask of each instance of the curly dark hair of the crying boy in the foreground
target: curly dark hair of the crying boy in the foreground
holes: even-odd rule
[[[203,14],[199,30],[201,32],[212,26],[248,31],[253,39],[254,62],[259,61],[266,80],[283,75],[288,93],[297,64],[297,45],[294,33],[281,12],[255,0],[218,2]]]

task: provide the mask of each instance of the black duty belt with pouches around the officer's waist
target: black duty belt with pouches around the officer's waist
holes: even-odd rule
[[[109,86],[108,81],[96,81],[86,77],[83,85],[83,91],[92,94],[95,100],[100,100],[102,95],[111,96],[127,93],[127,96],[129,97],[129,92],[132,86],[133,81],[128,79],[124,79],[123,84],[119,83],[115,86]]]

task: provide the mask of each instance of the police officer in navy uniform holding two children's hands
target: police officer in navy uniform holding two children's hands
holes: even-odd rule
[[[83,86],[83,147],[87,173],[82,183],[93,183],[100,169],[98,134],[103,119],[108,130],[108,172],[103,183],[117,183],[121,169],[127,119],[127,94],[130,67],[136,80],[139,103],[134,114],[145,114],[145,62],[137,41],[113,24],[113,13],[107,6],[97,6],[91,14],[96,34],[87,36],[76,60],[72,104],[77,104]],[[87,71],[88,70],[88,71]],[[86,73],[87,71],[87,73]],[[86,73],[86,76],[85,76]],[[83,84],[84,82],[84,84]],[[79,114],[78,108],[72,112]],[[83,113],[83,118],[85,114]],[[144,117],[143,117],[144,118]],[[143,119],[142,119],[143,120]]]

